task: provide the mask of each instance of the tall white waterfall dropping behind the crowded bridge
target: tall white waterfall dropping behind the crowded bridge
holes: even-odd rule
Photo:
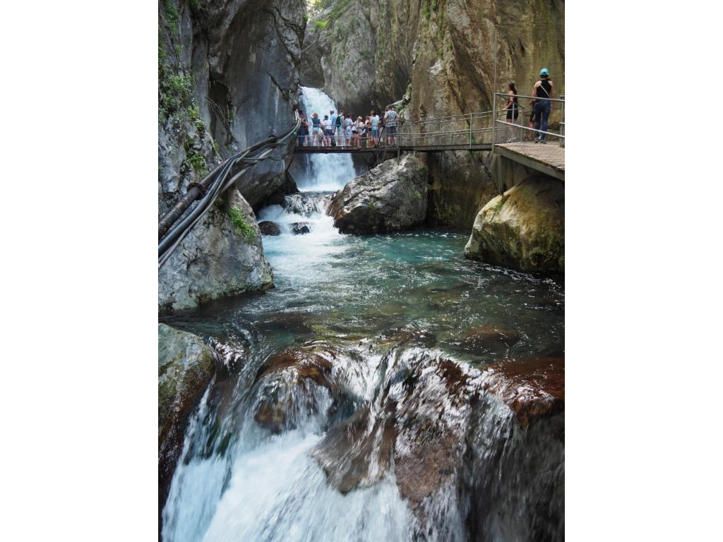
[[[333,100],[318,88],[301,87],[301,103],[309,126],[312,113],[322,120],[329,111],[338,113]],[[299,155],[297,160],[300,158],[307,160],[307,168],[304,178],[296,178],[299,190],[336,191],[354,178],[354,163],[348,153]]]

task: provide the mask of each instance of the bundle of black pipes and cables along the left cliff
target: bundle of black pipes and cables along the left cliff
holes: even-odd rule
[[[259,163],[262,160],[268,158],[268,156],[277,147],[285,145],[288,142],[288,138],[296,135],[296,132],[301,126],[301,118],[296,115],[296,122],[294,127],[286,132],[282,137],[270,136],[261,142],[249,145],[241,152],[237,152],[235,155],[228,158],[225,162],[219,164],[214,170],[209,173],[202,182],[192,186],[189,192],[197,192],[200,194],[201,190],[199,185],[203,186],[205,194],[201,197],[199,204],[189,212],[189,214],[183,218],[179,223],[171,228],[171,225],[179,219],[181,215],[190,207],[191,203],[197,199],[194,197],[191,199],[189,193],[184,195],[176,205],[171,208],[170,211],[163,215],[163,218],[158,223],[158,232],[161,239],[158,243],[158,269],[161,269],[164,263],[171,257],[176,247],[181,244],[181,241],[189,234],[194,225],[206,215],[210,210],[211,206],[218,197],[226,192],[236,180],[245,173],[252,165]],[[229,174],[237,164],[244,164],[245,167],[241,168],[240,171],[234,173],[231,178],[228,178]],[[180,205],[182,202],[182,205]],[[181,209],[181,207],[184,207]],[[180,212],[179,212],[180,210]],[[162,230],[165,233],[162,233]]]

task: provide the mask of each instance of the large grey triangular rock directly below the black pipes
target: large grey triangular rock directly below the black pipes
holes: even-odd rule
[[[259,226],[235,189],[225,209],[214,206],[158,270],[161,313],[273,287]]]

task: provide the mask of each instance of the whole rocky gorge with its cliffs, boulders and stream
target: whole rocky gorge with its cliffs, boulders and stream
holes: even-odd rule
[[[495,21],[498,77],[563,74],[563,12],[160,1],[159,217],[297,107],[489,107]],[[293,145],[159,270],[161,539],[561,540],[564,184]]]

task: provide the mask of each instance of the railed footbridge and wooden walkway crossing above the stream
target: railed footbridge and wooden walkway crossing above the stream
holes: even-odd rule
[[[508,98],[508,95],[503,93],[495,93],[495,96],[505,101]],[[307,135],[297,138],[294,153],[400,155],[402,152],[492,151],[495,155],[493,170],[496,169],[498,175],[501,175],[506,160],[511,160],[524,168],[564,181],[565,98],[563,96],[550,101],[557,103],[559,107],[560,120],[555,123],[558,132],[542,132],[523,125],[527,119],[524,108],[520,106],[521,114],[517,120],[511,122],[505,118],[505,110],[424,119],[399,124],[398,133],[393,136],[385,134],[382,128],[379,137],[359,137],[356,145],[330,145],[330,139],[346,143],[343,137],[337,139],[335,135],[326,141],[318,135]],[[546,137],[547,144],[531,140],[538,136]]]

